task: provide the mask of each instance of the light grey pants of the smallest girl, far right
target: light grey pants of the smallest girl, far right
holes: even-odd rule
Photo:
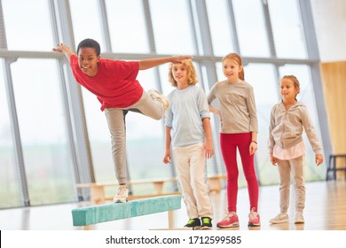
[[[305,207],[304,158],[278,159],[280,212],[287,213],[290,198],[291,174],[295,186],[295,212],[302,212]]]

